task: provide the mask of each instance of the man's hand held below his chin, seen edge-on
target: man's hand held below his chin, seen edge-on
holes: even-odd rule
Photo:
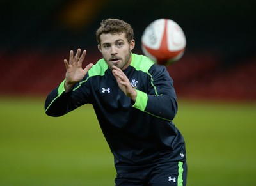
[[[116,67],[115,65],[113,65],[111,68],[119,88],[125,93],[125,95],[127,95],[127,97],[130,97],[135,102],[137,92],[134,88],[132,88],[131,83],[127,76],[120,68]]]

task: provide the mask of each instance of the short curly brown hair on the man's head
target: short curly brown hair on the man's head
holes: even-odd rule
[[[100,35],[106,33],[125,33],[128,43],[133,40],[134,33],[130,24],[120,19],[105,19],[100,23],[99,29],[96,31],[96,39],[100,45]]]

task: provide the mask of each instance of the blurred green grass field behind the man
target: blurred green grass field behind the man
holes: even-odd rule
[[[114,185],[115,168],[92,105],[60,118],[44,98],[0,98],[0,185]],[[188,186],[256,185],[256,103],[179,100]]]

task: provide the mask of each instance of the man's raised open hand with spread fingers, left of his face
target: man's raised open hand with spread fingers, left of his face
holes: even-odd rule
[[[83,51],[81,56],[80,54],[81,49],[77,49],[76,56],[74,57],[74,52],[71,50],[69,54],[69,61],[64,59],[64,64],[67,70],[65,77],[65,92],[68,92],[72,86],[81,81],[84,75],[86,75],[88,70],[90,70],[90,68],[93,66],[93,63],[90,63],[86,66],[86,68],[83,69],[82,63],[86,55],[86,50]]]

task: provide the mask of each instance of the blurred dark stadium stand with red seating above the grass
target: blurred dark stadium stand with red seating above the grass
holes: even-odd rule
[[[43,95],[65,77],[69,50],[101,58],[95,31],[102,19],[123,19],[135,31],[173,19],[187,38],[182,59],[168,71],[178,97],[256,100],[255,1],[1,1],[0,95]]]

